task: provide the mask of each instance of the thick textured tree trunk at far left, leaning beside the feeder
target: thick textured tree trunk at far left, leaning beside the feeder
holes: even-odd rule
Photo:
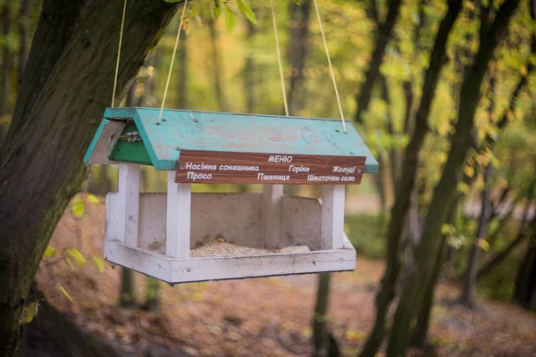
[[[121,97],[177,4],[130,0]],[[122,2],[45,0],[0,157],[0,355],[20,349],[20,316],[38,263],[71,197],[110,103]],[[103,16],[103,14],[106,16]]]

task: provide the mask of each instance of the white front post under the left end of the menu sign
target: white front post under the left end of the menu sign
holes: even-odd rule
[[[192,186],[176,183],[175,175],[175,171],[168,171],[165,254],[174,258],[188,258]]]

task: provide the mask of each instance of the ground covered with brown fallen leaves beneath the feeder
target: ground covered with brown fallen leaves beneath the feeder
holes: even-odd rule
[[[84,331],[130,356],[311,355],[314,275],[162,284],[157,312],[117,306],[121,269],[101,261],[105,205],[93,197],[84,200],[80,218],[71,211],[63,216],[50,244],[54,250],[47,251],[38,272],[48,300]],[[329,323],[345,355],[359,352],[372,327],[382,270],[381,261],[358,258],[354,272],[333,275]],[[145,278],[136,279],[141,301]],[[535,314],[488,300],[467,310],[453,303],[458,288],[448,282],[436,294],[434,355],[536,355]]]

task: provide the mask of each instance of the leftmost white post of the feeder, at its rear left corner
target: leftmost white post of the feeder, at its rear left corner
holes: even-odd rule
[[[121,242],[138,246],[139,215],[139,165],[119,164],[119,239]]]

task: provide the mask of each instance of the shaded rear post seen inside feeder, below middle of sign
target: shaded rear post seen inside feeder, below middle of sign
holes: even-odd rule
[[[281,248],[283,185],[264,185],[261,229],[266,248]]]

